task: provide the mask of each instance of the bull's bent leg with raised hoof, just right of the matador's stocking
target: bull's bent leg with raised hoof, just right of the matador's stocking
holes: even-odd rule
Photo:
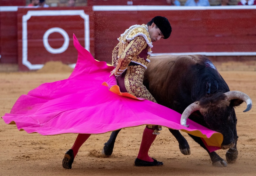
[[[190,147],[188,145],[188,141],[180,134],[180,131],[170,128],[169,131],[177,139],[179,143],[180,152],[184,155],[190,155]]]

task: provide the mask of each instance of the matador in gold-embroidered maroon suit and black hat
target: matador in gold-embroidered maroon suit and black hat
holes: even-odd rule
[[[112,65],[116,68],[110,74],[116,76],[121,92],[128,92],[137,98],[156,103],[154,97],[143,85],[144,70],[150,62],[152,42],[169,38],[171,32],[168,19],[156,16],[147,25],[133,25],[121,34],[112,54]],[[148,156],[148,150],[156,135],[159,134],[158,130],[161,129],[159,125],[146,126],[135,166],[163,165],[163,162]]]

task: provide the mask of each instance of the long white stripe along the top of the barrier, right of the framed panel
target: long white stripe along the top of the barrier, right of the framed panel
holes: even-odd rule
[[[94,5],[93,11],[184,11],[184,10],[244,10],[256,9],[256,5],[228,6],[165,6],[165,5]]]

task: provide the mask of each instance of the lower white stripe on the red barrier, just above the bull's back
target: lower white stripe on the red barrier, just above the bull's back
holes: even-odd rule
[[[191,53],[152,53],[154,55],[205,55],[205,56],[254,56],[256,52],[191,52]]]

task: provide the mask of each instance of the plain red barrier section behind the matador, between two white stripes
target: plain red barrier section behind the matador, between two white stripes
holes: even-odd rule
[[[94,12],[95,46],[104,50],[96,49],[96,58],[110,62],[120,34],[157,15],[170,20],[172,34],[153,42],[153,53],[256,51],[256,10],[100,11]]]

